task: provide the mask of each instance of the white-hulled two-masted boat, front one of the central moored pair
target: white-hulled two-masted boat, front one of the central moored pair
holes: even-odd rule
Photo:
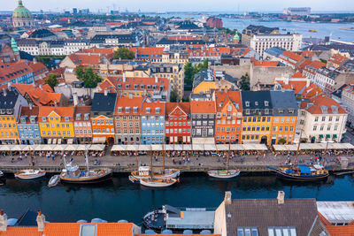
[[[153,164],[152,164],[152,155],[150,156],[150,177],[149,178],[144,178],[144,179],[134,179],[133,176],[129,176],[129,179],[131,181],[139,182],[142,186],[144,187],[169,187],[174,185],[179,181],[179,179],[175,179],[172,177],[160,177],[156,178],[154,176],[154,170],[153,170]],[[165,172],[165,162],[163,166],[164,172]]]

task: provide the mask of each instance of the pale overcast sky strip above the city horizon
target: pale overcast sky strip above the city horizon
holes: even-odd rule
[[[353,0],[23,0],[30,11],[282,11],[290,6],[309,6],[312,11],[354,11]],[[12,11],[16,0],[1,0],[0,11]],[[4,2],[6,4],[4,4]],[[107,8],[108,7],[108,8]]]

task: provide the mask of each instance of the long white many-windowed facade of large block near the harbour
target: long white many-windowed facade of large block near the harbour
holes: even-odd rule
[[[273,47],[299,51],[302,42],[302,34],[253,34],[250,38],[250,49],[254,49],[263,57],[263,51]]]

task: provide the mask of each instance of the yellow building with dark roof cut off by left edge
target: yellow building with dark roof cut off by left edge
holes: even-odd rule
[[[19,93],[4,89],[0,92],[0,143],[18,144],[19,132],[16,120],[21,106],[27,106],[26,99]]]

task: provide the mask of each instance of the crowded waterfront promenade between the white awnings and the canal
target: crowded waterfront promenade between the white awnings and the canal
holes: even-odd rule
[[[345,156],[345,155],[344,155]],[[354,156],[345,156],[349,160],[347,170],[354,169]],[[12,160],[13,158],[13,160]],[[85,165],[84,156],[66,156],[66,160],[69,161],[73,158],[74,164],[81,166]],[[99,160],[99,166],[112,168],[114,172],[129,172],[136,168],[136,156],[102,156],[102,157],[89,157],[89,165],[91,168],[95,168],[95,159]],[[137,156],[139,163],[142,165],[150,165],[150,156]],[[56,156],[54,159],[44,156],[35,156],[35,166],[40,167],[42,170],[50,172],[58,172],[63,169],[62,156]],[[286,164],[293,163],[295,156],[273,156],[271,153],[267,153],[266,156],[241,156],[230,158],[230,168],[237,168],[241,171],[270,171],[267,166],[284,166]],[[338,156],[323,156],[322,162],[326,160],[326,167],[333,171],[343,171],[341,164],[338,161]],[[314,163],[314,156],[299,155],[298,161],[301,164]],[[223,169],[226,168],[226,158],[218,156],[199,156],[190,157],[189,159],[180,159],[175,157],[174,163],[172,157],[165,157],[166,168],[181,168],[181,171],[207,171],[209,169]],[[163,157],[158,156],[157,160],[153,159],[154,166],[163,165]],[[19,156],[0,156],[0,170],[1,171],[18,171],[23,168],[31,166],[31,158],[29,156],[22,156],[22,160]]]

